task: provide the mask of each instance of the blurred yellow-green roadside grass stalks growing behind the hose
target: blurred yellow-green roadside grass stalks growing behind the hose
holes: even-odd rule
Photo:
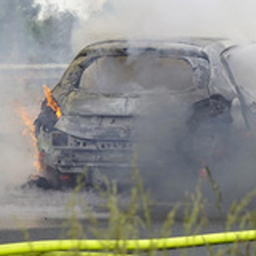
[[[216,183],[212,176],[208,179],[212,189],[216,189]],[[151,209],[155,207],[154,201],[151,200],[148,191],[143,186],[142,179],[137,168],[132,170],[133,185],[128,195],[128,200],[124,199],[121,194],[117,193],[115,181],[106,179],[106,190],[96,188],[95,192],[102,198],[100,204],[101,211],[108,213],[107,223],[101,225],[97,220],[97,214],[93,208],[85,202],[83,184],[78,185],[72,193],[70,200],[66,205],[66,221],[62,226],[61,239],[115,239],[116,241],[124,239],[140,238],[168,238],[177,236],[176,225],[183,227],[182,234],[185,236],[203,234],[210,220],[205,212],[207,199],[202,194],[202,178],[199,178],[194,193],[185,194],[185,205],[181,202],[175,203],[166,212],[165,217],[159,223],[152,223],[154,216]],[[211,183],[212,182],[212,183]],[[234,230],[255,230],[255,207],[247,209],[248,204],[256,198],[256,190],[249,191],[239,201],[234,201],[228,212],[224,214],[224,222],[221,222],[222,231]],[[122,202],[126,202],[125,206]],[[218,194],[216,194],[218,202]],[[220,203],[221,204],[221,203]],[[215,205],[219,210],[219,204]],[[78,218],[77,210],[82,209],[83,215],[88,222],[83,224],[83,219]],[[181,211],[180,211],[181,210]],[[180,218],[182,216],[182,218]],[[153,224],[153,225],[152,225]],[[157,225],[159,224],[159,225]],[[157,228],[154,228],[156,225]],[[77,251],[78,252],[78,251]],[[203,255],[209,256],[249,256],[256,255],[256,242],[240,242],[206,245],[201,250],[197,247],[177,248],[174,251],[162,250],[157,251],[152,244],[152,249],[147,252],[136,251],[136,255]],[[110,253],[106,249],[105,253]],[[113,255],[128,255],[126,247],[116,247],[112,252]]]

